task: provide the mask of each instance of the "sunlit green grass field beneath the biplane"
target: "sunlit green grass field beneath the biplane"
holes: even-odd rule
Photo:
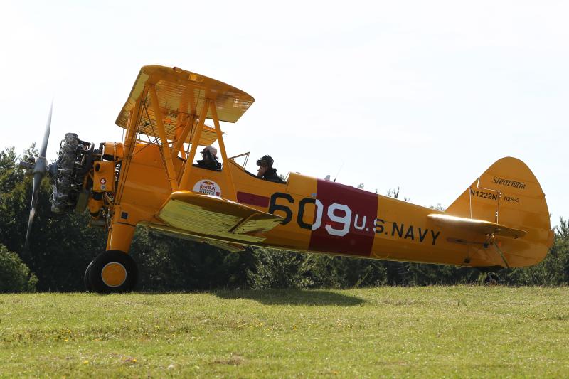
[[[568,288],[0,295],[0,376],[569,377]]]

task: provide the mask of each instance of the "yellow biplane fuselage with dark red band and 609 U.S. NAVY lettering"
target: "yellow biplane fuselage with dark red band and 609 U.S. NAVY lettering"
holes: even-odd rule
[[[176,172],[182,163],[181,159],[174,161]],[[250,245],[448,265],[499,264],[484,249],[473,254],[472,244],[456,242],[469,240],[482,247],[484,238],[459,231],[449,235],[437,227],[427,218],[437,210],[297,173],[290,173],[287,181],[265,181],[233,160],[223,167],[227,169],[233,179],[235,201],[283,218],[281,225],[265,233],[264,241]],[[156,214],[171,188],[158,146],[139,144],[128,171],[120,175],[127,175],[119,204],[130,218],[124,222],[163,229],[165,223]],[[222,171],[194,165],[188,181],[190,188],[182,189],[228,198],[230,186],[226,178]],[[203,230],[171,231],[220,239]]]

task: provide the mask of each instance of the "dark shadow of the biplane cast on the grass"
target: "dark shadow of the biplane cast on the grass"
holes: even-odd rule
[[[359,297],[325,290],[271,289],[247,291],[216,291],[222,299],[250,299],[265,305],[354,306],[366,302]]]

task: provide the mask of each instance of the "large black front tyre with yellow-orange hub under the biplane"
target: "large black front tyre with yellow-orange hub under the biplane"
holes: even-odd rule
[[[137,264],[132,257],[119,250],[97,255],[88,272],[92,289],[100,294],[130,292],[138,279]]]

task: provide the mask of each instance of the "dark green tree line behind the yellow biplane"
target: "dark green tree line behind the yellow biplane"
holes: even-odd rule
[[[31,177],[18,167],[36,156],[31,147],[18,155],[0,153],[0,292],[84,291],[83,273],[105,250],[107,233],[88,226],[86,213],[50,212],[50,186],[44,180],[28,250],[26,238]],[[363,185],[361,185],[363,187]],[[389,196],[398,196],[390,191]],[[178,240],[137,228],[130,254],[139,265],[139,291],[208,289],[351,288],[383,285],[471,284],[488,279],[469,267],[366,260],[247,247],[225,252],[211,245]],[[543,262],[504,269],[493,281],[511,285],[569,284],[569,223],[555,228],[555,243]]]

